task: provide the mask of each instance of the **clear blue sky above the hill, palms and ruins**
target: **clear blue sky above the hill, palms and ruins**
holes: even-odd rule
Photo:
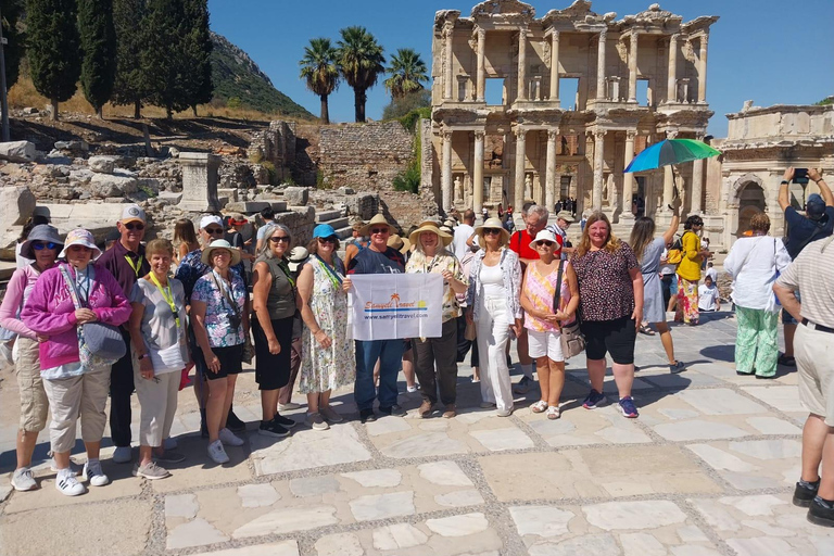
[[[564,9],[571,0],[533,1],[538,16]],[[475,0],[208,0],[212,29],[249,53],[273,84],[318,115],[319,100],[299,79],[299,60],[311,38],[336,41],[339,29],[364,25],[384,48],[386,59],[414,48],[431,64],[434,12],[460,10],[468,16]],[[644,11],[650,0],[596,0],[596,13],[617,18]],[[684,21],[720,15],[709,40],[707,100],[716,112],[709,132],[726,135],[728,112],[745,100],[756,105],[806,104],[834,94],[832,0],[674,0],[664,10]],[[383,79],[383,78],[382,78]],[[382,79],[368,91],[367,116],[377,119],[389,99]],[[353,122],[353,89],[342,84],[330,96],[330,118]]]

